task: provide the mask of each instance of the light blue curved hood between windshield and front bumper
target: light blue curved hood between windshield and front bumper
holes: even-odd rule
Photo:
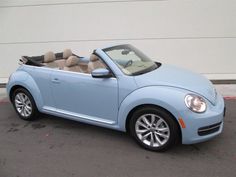
[[[135,76],[138,87],[146,86],[168,86],[195,92],[212,104],[216,101],[216,91],[212,83],[204,76],[178,68],[162,64],[158,69]]]

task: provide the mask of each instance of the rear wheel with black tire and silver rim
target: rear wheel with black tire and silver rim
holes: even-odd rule
[[[16,113],[23,120],[34,120],[38,117],[39,111],[32,95],[24,88],[18,88],[11,96]]]

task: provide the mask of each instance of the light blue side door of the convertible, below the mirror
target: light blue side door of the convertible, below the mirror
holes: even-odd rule
[[[93,78],[91,74],[55,70],[51,89],[57,112],[78,119],[115,124],[118,84],[115,77]]]

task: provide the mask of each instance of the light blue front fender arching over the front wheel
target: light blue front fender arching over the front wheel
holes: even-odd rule
[[[118,126],[126,131],[126,119],[131,110],[140,105],[152,104],[169,111],[176,119],[181,110],[186,109],[184,97],[186,91],[166,86],[142,87],[129,94],[121,103],[118,113]]]

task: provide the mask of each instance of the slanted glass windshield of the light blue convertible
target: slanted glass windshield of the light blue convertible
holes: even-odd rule
[[[126,75],[140,75],[158,68],[158,64],[131,45],[103,49]]]

